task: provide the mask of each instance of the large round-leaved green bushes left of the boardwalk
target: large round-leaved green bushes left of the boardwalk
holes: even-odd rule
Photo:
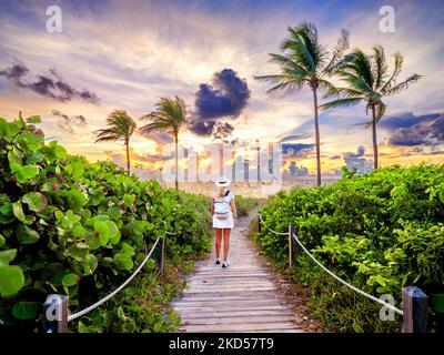
[[[120,285],[165,231],[178,233],[167,236],[168,257],[208,251],[208,200],[44,144],[38,122],[0,119],[0,324],[38,331],[36,305],[52,293],[69,296],[71,313],[89,306]],[[152,257],[147,271],[159,250]],[[112,312],[113,327],[127,324],[124,310]],[[139,325],[120,328],[131,329]]]

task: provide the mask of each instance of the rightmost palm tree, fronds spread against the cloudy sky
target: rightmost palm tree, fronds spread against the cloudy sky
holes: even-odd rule
[[[381,45],[373,47],[373,54],[367,55],[360,49],[355,49],[352,53],[345,55],[339,75],[347,84],[347,88],[335,88],[327,94],[337,99],[324,103],[321,110],[337,106],[349,106],[361,102],[365,103],[365,113],[372,112],[372,121],[367,124],[372,125],[373,139],[373,159],[374,169],[379,166],[376,124],[383,118],[386,111],[386,104],[382,101],[384,97],[395,95],[408,88],[410,84],[422,78],[418,74],[412,74],[404,81],[397,82],[401,73],[403,57],[395,53],[394,70],[389,74],[389,65],[385,61],[384,48]]]

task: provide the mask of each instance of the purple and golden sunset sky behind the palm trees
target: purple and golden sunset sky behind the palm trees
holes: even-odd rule
[[[62,10],[62,32],[49,33],[47,8]],[[395,10],[395,32],[380,30],[382,6]],[[386,99],[379,126],[382,165],[444,162],[444,6],[442,1],[0,1],[0,116],[40,114],[47,139],[90,160],[119,159],[123,144],[93,143],[92,131],[124,109],[139,118],[160,97],[182,97],[190,124],[181,142],[199,149],[225,140],[294,144],[296,162],[314,172],[313,103],[309,89],[266,94],[254,75],[278,73],[268,53],[279,52],[289,26],[316,24],[331,49],[341,29],[351,49],[385,48],[404,55],[401,80],[424,75]],[[232,99],[231,101],[228,98]],[[233,101],[234,100],[234,101]],[[233,103],[234,102],[234,103]],[[322,100],[321,100],[322,102]],[[342,154],[365,148],[371,130],[363,105],[322,112],[323,170]],[[132,139],[134,162],[158,160],[170,138]]]

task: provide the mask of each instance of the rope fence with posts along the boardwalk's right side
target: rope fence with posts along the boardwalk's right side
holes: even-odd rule
[[[304,251],[306,255],[310,256],[313,262],[320,266],[325,273],[327,273],[330,276],[342,283],[343,285],[347,286],[349,288],[353,290],[354,292],[372,300],[373,302],[376,302],[384,307],[387,307],[389,310],[400,314],[401,316],[404,317],[403,321],[403,331],[405,333],[423,333],[425,332],[426,328],[426,318],[427,318],[427,296],[417,287],[405,287],[403,288],[403,310],[400,310],[395,307],[394,305],[384,302],[383,300],[380,300],[355,286],[352,284],[347,283],[346,281],[342,280],[337,275],[335,275],[333,272],[331,272],[327,267],[325,267],[320,261],[317,261],[312,253],[309,252],[309,250],[303,245],[303,243],[299,240],[296,234],[294,233],[295,226],[290,225],[289,226],[289,233],[283,233],[283,232],[276,232],[273,229],[271,229],[269,225],[266,225],[263,221],[263,217],[261,213],[258,213],[259,216],[259,223],[260,225],[262,224],[268,231],[274,233],[275,235],[289,235],[289,264],[290,266],[292,265],[291,258],[292,258],[292,244],[291,240],[293,239],[299,246]],[[261,229],[259,229],[261,230]]]

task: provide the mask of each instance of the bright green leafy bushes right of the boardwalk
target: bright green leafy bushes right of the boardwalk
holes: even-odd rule
[[[305,247],[326,267],[370,294],[392,294],[400,306],[403,286],[444,293],[443,181],[444,165],[392,166],[363,176],[346,173],[332,185],[280,193],[262,215],[276,231],[294,224]],[[285,267],[285,237],[263,229],[256,242]],[[312,264],[301,251],[292,276],[310,285],[309,303],[327,329],[400,331],[400,322],[381,322],[377,305],[347,295]]]

